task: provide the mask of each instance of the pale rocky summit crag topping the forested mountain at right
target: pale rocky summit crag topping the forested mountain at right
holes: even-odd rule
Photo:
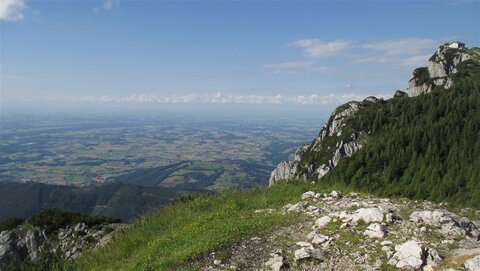
[[[440,46],[430,57],[427,67],[417,68],[408,81],[408,96],[414,97],[431,92],[436,86],[448,89],[453,81],[450,75],[457,73],[461,62],[479,56],[477,49],[450,48],[448,44]]]

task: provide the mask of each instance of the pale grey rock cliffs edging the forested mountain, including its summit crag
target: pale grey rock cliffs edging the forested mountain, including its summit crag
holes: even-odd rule
[[[450,88],[457,66],[470,59],[480,61],[479,48],[450,48],[448,44],[440,46],[429,59],[428,67],[417,68],[413,72],[407,92],[398,90],[394,98],[426,94],[436,87]],[[310,144],[297,149],[293,161],[281,162],[273,170],[269,185],[288,179],[319,180],[337,166],[342,158],[360,150],[367,142],[369,131],[356,131],[348,126],[348,121],[360,109],[380,101],[368,97],[362,102],[349,102],[335,109],[318,136]]]

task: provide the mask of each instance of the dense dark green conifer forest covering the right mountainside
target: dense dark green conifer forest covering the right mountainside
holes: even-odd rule
[[[362,107],[347,126],[368,143],[322,181],[480,207],[480,65],[462,62],[452,79],[450,89]]]

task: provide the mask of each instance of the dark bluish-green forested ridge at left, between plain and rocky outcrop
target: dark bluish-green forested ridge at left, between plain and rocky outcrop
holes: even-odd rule
[[[0,221],[11,217],[29,218],[44,209],[58,208],[129,222],[189,193],[191,191],[120,183],[95,187],[0,183]]]

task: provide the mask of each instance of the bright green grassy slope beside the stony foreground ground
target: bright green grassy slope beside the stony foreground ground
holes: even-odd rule
[[[47,269],[178,270],[185,261],[212,249],[293,223],[295,215],[256,214],[255,210],[297,202],[311,188],[304,182],[284,183],[177,201],[118,232],[107,246]]]

